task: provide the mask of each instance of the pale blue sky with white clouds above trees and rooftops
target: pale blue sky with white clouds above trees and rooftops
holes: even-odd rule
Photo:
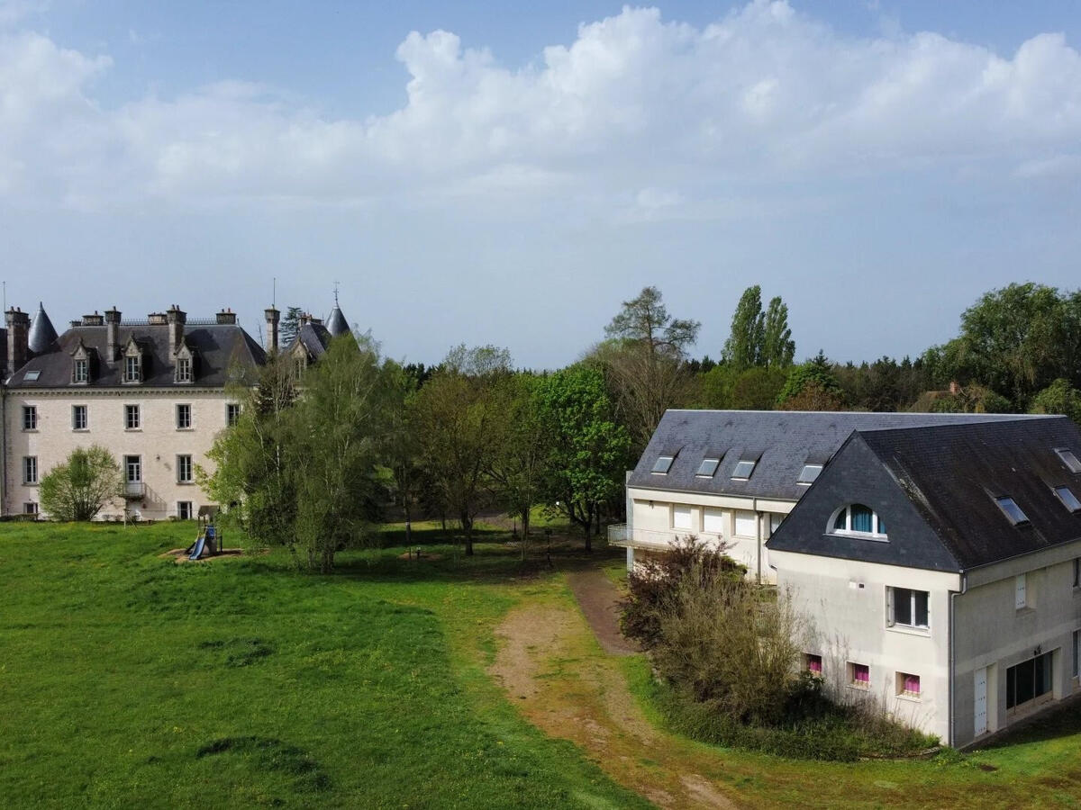
[[[280,306],[387,353],[558,366],[656,284],[717,355],[749,284],[800,356],[918,353],[1077,286],[1072,2],[0,0],[8,301]],[[415,32],[415,33],[414,33]]]

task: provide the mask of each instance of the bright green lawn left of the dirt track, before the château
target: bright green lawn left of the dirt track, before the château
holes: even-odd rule
[[[0,525],[0,804],[636,807],[484,673],[515,554],[177,565],[192,525]],[[227,545],[231,543],[227,542]]]

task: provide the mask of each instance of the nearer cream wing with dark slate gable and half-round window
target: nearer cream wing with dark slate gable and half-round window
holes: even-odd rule
[[[1081,431],[859,429],[768,542],[805,663],[951,745],[1078,689]]]

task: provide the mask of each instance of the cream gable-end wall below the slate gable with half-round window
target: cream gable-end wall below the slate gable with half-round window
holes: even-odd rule
[[[956,573],[773,551],[782,595],[808,619],[805,652],[823,657],[823,677],[842,699],[875,698],[899,720],[949,735],[949,594]],[[929,630],[890,627],[886,588],[929,593]],[[869,688],[850,686],[848,663],[869,667]],[[920,678],[920,697],[898,696],[898,673]]]

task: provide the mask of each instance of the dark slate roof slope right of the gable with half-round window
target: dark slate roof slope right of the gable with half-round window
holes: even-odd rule
[[[879,430],[858,437],[879,458],[962,568],[1081,539],[1081,512],[1054,492],[1081,498],[1081,473],[1055,453],[1081,458],[1081,430],[1066,417]],[[1013,525],[995,499],[1009,496],[1028,517]]]

